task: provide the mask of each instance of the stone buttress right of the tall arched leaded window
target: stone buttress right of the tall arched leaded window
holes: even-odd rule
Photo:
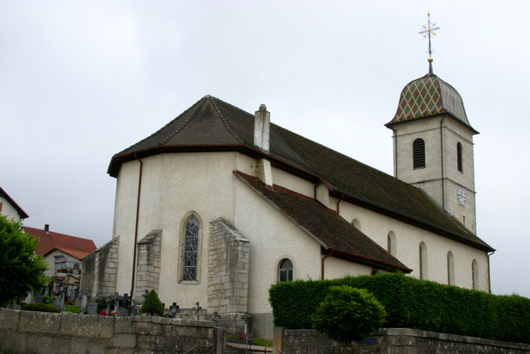
[[[224,218],[210,222],[208,309],[220,315],[245,313],[248,293],[248,240]]]

